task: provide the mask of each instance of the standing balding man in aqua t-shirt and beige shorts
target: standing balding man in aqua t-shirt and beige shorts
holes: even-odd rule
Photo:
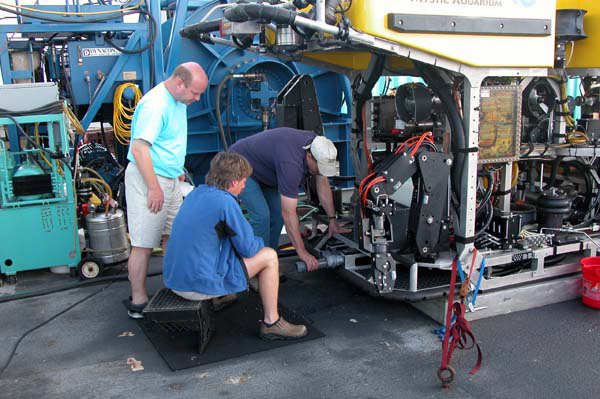
[[[146,274],[152,249],[165,243],[181,206],[179,177],[187,144],[187,106],[200,99],[208,79],[202,67],[186,62],[142,97],[131,123],[125,171],[131,255],[129,316],[141,318],[148,302]]]

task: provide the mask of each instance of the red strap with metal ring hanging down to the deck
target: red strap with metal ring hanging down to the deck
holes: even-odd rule
[[[472,266],[471,266],[472,268]],[[481,368],[481,348],[475,341],[475,336],[471,329],[471,325],[465,319],[465,305],[462,303],[454,303],[454,289],[456,285],[457,258],[452,262],[452,275],[450,277],[450,290],[448,292],[448,309],[446,311],[446,333],[444,342],[442,343],[442,364],[438,369],[438,377],[442,381],[442,387],[447,388],[454,380],[455,371],[450,366],[452,352],[454,349],[468,350],[477,347],[477,363],[471,369],[470,373],[475,374]],[[456,316],[454,325],[452,322],[452,313]],[[452,336],[452,342],[450,342]]]

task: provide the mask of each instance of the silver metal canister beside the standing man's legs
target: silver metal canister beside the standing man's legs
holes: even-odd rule
[[[122,210],[90,213],[85,218],[92,255],[105,264],[129,258],[125,214]]]

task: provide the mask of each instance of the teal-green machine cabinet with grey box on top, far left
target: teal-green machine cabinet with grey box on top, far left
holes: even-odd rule
[[[0,86],[0,272],[9,283],[25,270],[75,271],[81,259],[65,123],[54,84]]]

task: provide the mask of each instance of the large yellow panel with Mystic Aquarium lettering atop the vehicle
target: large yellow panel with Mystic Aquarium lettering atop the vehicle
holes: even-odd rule
[[[556,0],[353,0],[352,26],[467,65],[552,67],[554,35],[499,36],[401,33],[387,27],[390,13],[556,20]]]

